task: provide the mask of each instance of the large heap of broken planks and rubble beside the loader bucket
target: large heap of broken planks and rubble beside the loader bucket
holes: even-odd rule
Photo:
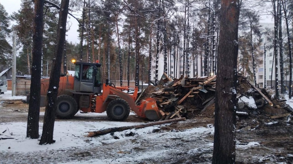
[[[163,112],[161,120],[173,118],[213,117],[217,76],[170,79],[166,74],[161,85],[149,86],[139,95],[137,103],[146,97],[156,99]],[[239,117],[270,115],[271,118],[291,116],[293,109],[285,100],[278,100],[265,90],[252,85],[246,77],[238,75],[237,112]]]

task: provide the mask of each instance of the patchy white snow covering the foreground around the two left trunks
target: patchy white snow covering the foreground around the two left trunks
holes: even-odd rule
[[[0,95],[0,101],[8,99],[25,99],[25,96],[11,96],[11,91],[10,94],[8,92]],[[292,106],[291,101],[287,102]],[[106,113],[91,113],[91,115],[106,115]],[[196,120],[187,121],[192,123]],[[185,130],[162,130],[161,127],[166,126],[165,124],[115,132],[114,135],[86,137],[87,132],[90,131],[138,124],[142,122],[57,121],[54,125],[56,142],[39,145],[38,139],[26,138],[26,122],[0,122],[0,134],[2,133],[0,137],[14,138],[0,140],[0,163],[172,163],[170,157],[178,161],[178,158],[185,156],[212,155],[213,141],[210,138],[214,135],[213,125]],[[42,125],[43,123],[40,122],[40,134]],[[258,141],[246,144],[237,142],[236,149],[243,150],[260,145]],[[210,163],[210,161],[198,163]]]

